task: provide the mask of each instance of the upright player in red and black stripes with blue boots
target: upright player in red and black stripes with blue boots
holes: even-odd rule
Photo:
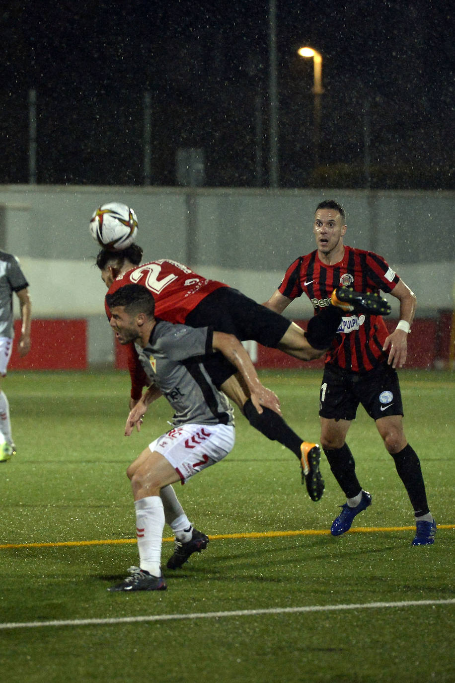
[[[322,201],[314,214],[317,249],[297,258],[287,269],[278,290],[265,303],[282,313],[297,296],[306,294],[317,315],[334,301],[340,285],[382,290],[400,301],[400,322],[389,335],[381,316],[349,313],[325,359],[321,384],[321,445],[332,473],[347,497],[332,524],[337,536],[350,529],[353,519],[371,504],[371,495],[360,486],[346,436],[359,403],[375,420],[385,448],[396,465],[416,521],[412,544],[435,540],[436,524],[428,509],[420,460],[407,443],[402,424],[402,400],[397,367],[405,364],[407,335],[416,299],[409,287],[383,258],[372,251],[344,246],[344,210],[336,201]]]

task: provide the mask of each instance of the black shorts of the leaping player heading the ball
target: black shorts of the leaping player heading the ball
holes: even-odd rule
[[[185,324],[192,327],[211,326],[216,332],[235,335],[241,342],[254,339],[263,346],[276,348],[291,321],[238,290],[220,287],[188,313]],[[237,368],[221,353],[207,357],[204,365],[216,387],[237,372]]]

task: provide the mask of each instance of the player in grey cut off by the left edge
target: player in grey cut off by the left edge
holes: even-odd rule
[[[13,293],[16,294],[20,306],[22,326],[18,341],[18,352],[25,356],[30,350],[31,301],[29,283],[25,279],[18,260],[12,254],[0,251],[0,376],[5,377],[10,362],[13,339]],[[0,447],[0,462],[10,460],[16,453],[12,438],[10,421],[10,404],[3,389],[0,389],[0,432],[3,443]]]

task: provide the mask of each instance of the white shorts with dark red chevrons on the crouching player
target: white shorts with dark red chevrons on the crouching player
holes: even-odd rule
[[[164,456],[185,484],[192,475],[226,458],[234,443],[231,425],[187,424],[158,436],[149,449]]]

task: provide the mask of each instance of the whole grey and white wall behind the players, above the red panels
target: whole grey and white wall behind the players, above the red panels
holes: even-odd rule
[[[88,231],[100,204],[134,208],[147,259],[179,260],[265,301],[295,257],[314,249],[314,209],[329,198],[347,211],[345,242],[383,255],[417,294],[420,315],[452,307],[455,193],[448,191],[0,186],[0,247],[20,258],[34,315],[87,318],[90,359],[104,362],[113,351]],[[295,301],[287,314],[306,318],[310,304]]]

